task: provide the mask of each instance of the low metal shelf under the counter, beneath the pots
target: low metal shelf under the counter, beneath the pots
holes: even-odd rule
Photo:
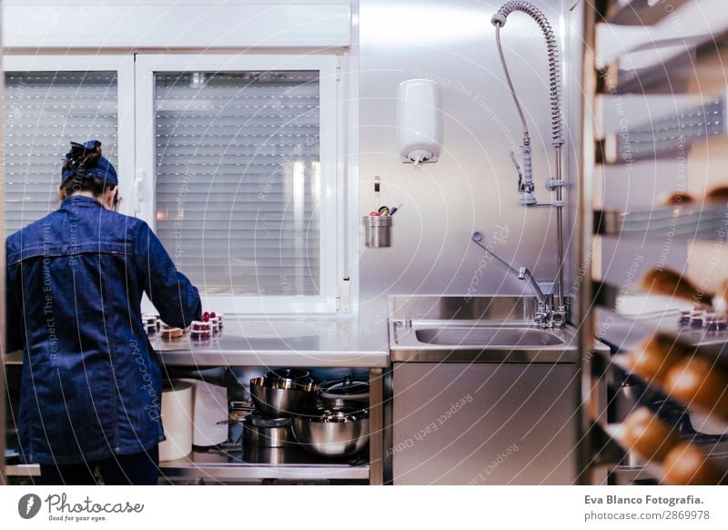
[[[202,479],[211,483],[266,479],[316,482],[369,481],[369,464],[366,463],[350,465],[347,460],[317,458],[297,448],[285,454],[279,449],[272,451],[273,458],[284,463],[247,462],[244,460],[245,455],[242,450],[193,451],[185,458],[159,463],[159,475],[162,480]],[[40,467],[37,464],[7,465],[5,473],[12,477],[37,477],[40,476]]]

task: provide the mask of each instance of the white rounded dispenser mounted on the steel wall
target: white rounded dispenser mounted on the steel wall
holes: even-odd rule
[[[442,143],[440,89],[430,79],[410,79],[397,88],[397,149],[403,162],[435,162]]]

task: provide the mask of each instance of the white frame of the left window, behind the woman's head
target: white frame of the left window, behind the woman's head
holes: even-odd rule
[[[131,215],[131,168],[134,168],[134,56],[127,55],[26,55],[3,57],[3,72],[116,72],[117,141],[116,160],[119,174],[120,211]],[[86,141],[93,138],[76,138]],[[70,148],[70,146],[66,146]],[[102,146],[102,149],[104,147]],[[125,173],[126,171],[126,173]],[[60,175],[58,185],[61,184]]]

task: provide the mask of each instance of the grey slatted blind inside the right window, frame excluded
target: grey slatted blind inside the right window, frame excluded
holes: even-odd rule
[[[207,295],[319,294],[319,72],[157,73],[157,235]]]

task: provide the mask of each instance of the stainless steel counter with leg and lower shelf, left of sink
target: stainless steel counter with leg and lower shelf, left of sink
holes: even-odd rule
[[[275,464],[246,461],[242,454],[194,453],[160,465],[173,480],[202,479],[206,482],[250,480],[369,481],[383,482],[384,369],[389,367],[387,319],[297,318],[276,320],[227,317],[223,330],[212,339],[193,340],[189,335],[150,341],[167,366],[287,366],[368,368],[370,384],[369,463],[349,465],[327,459],[301,458]],[[5,363],[20,364],[13,352]],[[238,452],[239,453],[239,452]],[[306,456],[306,455],[304,455]],[[288,456],[287,456],[288,458]],[[35,476],[33,464],[8,466],[9,474]]]

